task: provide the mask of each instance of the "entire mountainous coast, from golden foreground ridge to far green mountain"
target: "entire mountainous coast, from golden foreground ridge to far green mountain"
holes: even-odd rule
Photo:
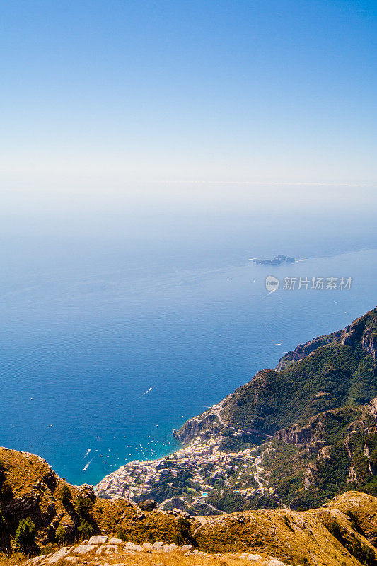
[[[25,566],[105,566],[102,555],[150,566],[173,548],[166,565],[191,566],[199,550],[208,565],[221,555],[226,565],[377,566],[376,335],[377,308],[298,345],[279,371],[260,370],[187,421],[175,432],[182,449],[127,463],[94,489],[0,448],[0,548],[17,548],[31,521],[23,550],[49,546]],[[117,538],[74,545],[93,534]],[[56,550],[62,541],[71,546]]]

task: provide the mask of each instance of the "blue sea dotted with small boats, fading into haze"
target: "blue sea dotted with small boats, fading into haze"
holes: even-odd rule
[[[185,420],[374,308],[376,197],[317,191],[298,187],[279,206],[269,195],[228,206],[216,192],[106,206],[8,192],[0,444],[74,485],[98,483],[174,451]],[[278,254],[296,261],[253,262]]]

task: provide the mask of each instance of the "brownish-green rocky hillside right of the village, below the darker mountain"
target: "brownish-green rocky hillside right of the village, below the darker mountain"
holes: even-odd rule
[[[279,501],[313,507],[344,490],[377,495],[377,399],[279,430],[262,451],[267,483]]]

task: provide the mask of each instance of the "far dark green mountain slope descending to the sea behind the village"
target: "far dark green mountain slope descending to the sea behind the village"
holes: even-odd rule
[[[267,437],[325,410],[368,403],[377,395],[377,308],[344,330],[315,338],[262,369],[219,405],[187,421],[175,436],[240,429]]]

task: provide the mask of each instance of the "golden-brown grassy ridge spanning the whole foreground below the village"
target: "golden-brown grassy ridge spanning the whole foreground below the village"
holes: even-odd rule
[[[364,493],[348,492],[304,512],[193,517],[141,509],[128,499],[98,499],[91,486],[67,484],[34,454],[0,448],[0,458],[1,566],[152,566],[156,560],[166,566],[377,565],[377,498]],[[75,513],[93,530],[67,530],[62,538],[59,526],[68,517],[76,527]],[[27,544],[15,536],[25,519],[35,528]],[[18,551],[15,558],[11,550]],[[35,558],[27,560],[30,555]]]

